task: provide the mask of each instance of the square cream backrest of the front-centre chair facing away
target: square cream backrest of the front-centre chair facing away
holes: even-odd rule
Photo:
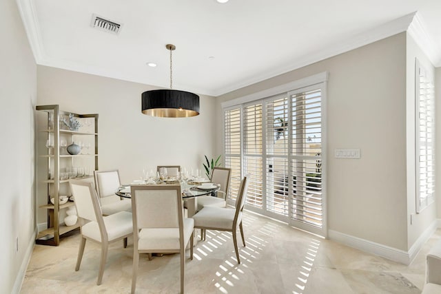
[[[131,194],[136,237],[143,228],[183,226],[181,185],[133,185]]]

